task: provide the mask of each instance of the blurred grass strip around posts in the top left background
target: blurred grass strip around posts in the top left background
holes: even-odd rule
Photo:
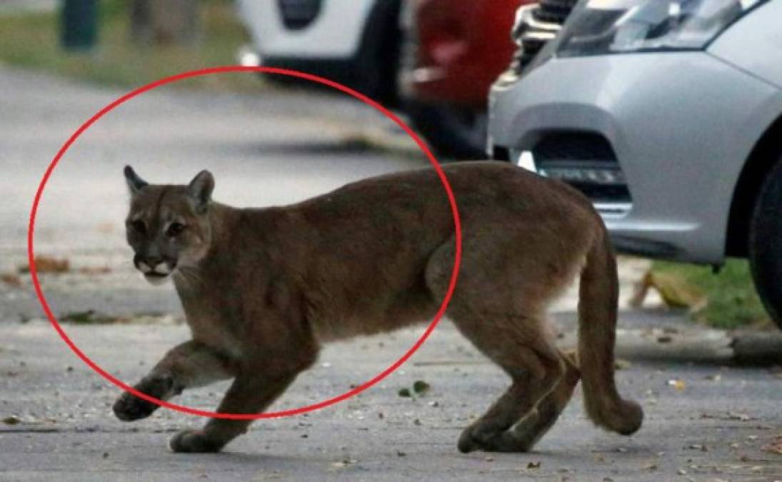
[[[185,70],[235,64],[249,43],[235,4],[201,2],[201,38],[191,46],[135,45],[130,36],[131,2],[100,2],[99,40],[94,51],[65,52],[59,45],[59,11],[0,15],[0,61],[102,85],[137,87]],[[255,74],[221,74],[179,82],[191,88],[253,92],[262,87]]]

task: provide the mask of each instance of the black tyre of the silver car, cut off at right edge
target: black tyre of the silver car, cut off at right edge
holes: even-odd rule
[[[782,329],[782,159],[766,178],[755,203],[749,262],[760,299]]]

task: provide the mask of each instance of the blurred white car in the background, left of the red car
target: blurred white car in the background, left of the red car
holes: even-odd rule
[[[396,100],[401,0],[239,0],[253,37],[240,62],[302,70]]]

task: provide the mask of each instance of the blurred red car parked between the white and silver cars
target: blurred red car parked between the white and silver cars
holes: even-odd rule
[[[400,94],[411,124],[439,153],[486,156],[486,96],[508,67],[519,5],[532,0],[407,0]]]

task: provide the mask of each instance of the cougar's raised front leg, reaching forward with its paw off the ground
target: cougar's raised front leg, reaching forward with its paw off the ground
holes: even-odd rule
[[[230,358],[214,348],[190,340],[172,348],[134,388],[167,401],[185,388],[203,387],[235,376],[233,365]],[[148,417],[158,406],[125,392],[114,403],[113,410],[118,419],[130,422]]]

